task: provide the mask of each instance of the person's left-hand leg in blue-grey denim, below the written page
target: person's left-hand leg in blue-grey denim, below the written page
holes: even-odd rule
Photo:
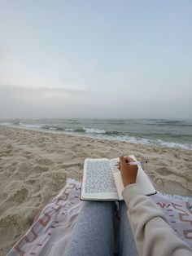
[[[113,255],[115,206],[109,201],[84,202],[64,255]]]

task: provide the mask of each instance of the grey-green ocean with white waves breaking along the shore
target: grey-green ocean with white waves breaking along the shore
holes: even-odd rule
[[[14,119],[1,120],[0,125],[192,150],[192,120]]]

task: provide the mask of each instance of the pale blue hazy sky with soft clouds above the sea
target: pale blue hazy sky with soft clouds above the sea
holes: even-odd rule
[[[191,119],[191,0],[0,0],[0,118]]]

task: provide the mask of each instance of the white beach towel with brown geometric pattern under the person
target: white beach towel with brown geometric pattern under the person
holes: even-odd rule
[[[83,204],[80,192],[81,183],[68,179],[66,186],[40,210],[32,227],[7,256],[64,255]],[[158,192],[151,199],[163,210],[177,235],[192,247],[192,197],[168,196]]]

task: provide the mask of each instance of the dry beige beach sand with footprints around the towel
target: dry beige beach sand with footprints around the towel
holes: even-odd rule
[[[192,151],[0,126],[0,255],[67,178],[81,179],[85,157],[115,158],[120,150],[149,161],[146,173],[160,192],[192,195]]]

